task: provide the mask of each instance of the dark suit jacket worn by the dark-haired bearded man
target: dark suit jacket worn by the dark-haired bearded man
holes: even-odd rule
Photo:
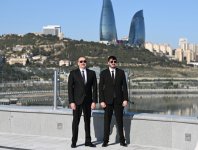
[[[128,91],[126,77],[123,70],[116,68],[115,81],[111,77],[108,69],[105,69],[100,74],[99,83],[99,100],[106,104],[112,104],[114,99],[115,104],[122,104],[123,100],[128,101]]]

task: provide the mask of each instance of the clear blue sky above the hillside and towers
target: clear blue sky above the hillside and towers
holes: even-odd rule
[[[128,36],[133,15],[143,10],[146,41],[178,47],[198,44],[197,0],[111,0],[118,38]],[[0,35],[42,32],[60,25],[65,37],[99,41],[103,0],[1,0]]]

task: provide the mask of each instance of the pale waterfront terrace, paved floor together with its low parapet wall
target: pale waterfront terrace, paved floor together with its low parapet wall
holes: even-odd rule
[[[0,149],[68,150],[71,149],[70,109],[0,105]],[[95,149],[104,149],[103,111],[91,117],[92,141]],[[84,122],[79,125],[77,149],[84,146]],[[125,113],[124,133],[128,147],[119,145],[113,117],[109,147],[130,150],[198,150],[198,118],[157,114]]]

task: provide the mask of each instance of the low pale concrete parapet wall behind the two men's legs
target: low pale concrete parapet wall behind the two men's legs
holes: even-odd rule
[[[68,109],[0,106],[0,118],[0,132],[71,139],[72,111]],[[102,141],[103,112],[93,111],[91,119],[92,140]],[[113,117],[110,142],[119,142],[115,124]],[[124,132],[127,143],[195,150],[198,144],[198,118],[126,113]],[[84,137],[82,117],[79,139]]]

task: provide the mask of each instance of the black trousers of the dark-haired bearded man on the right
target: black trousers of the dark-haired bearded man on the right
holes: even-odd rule
[[[109,135],[110,135],[110,125],[111,119],[113,115],[113,111],[116,118],[118,133],[120,136],[120,142],[125,142],[124,133],[123,133],[123,109],[122,105],[107,104],[106,108],[104,109],[104,138],[103,141],[108,143],[109,142]]]

